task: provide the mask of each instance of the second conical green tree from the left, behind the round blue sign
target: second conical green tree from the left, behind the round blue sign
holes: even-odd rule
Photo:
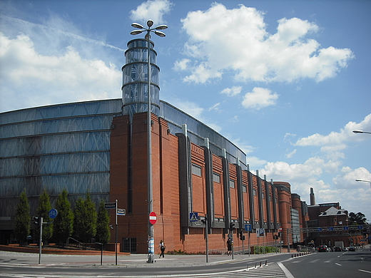
[[[49,217],[49,211],[51,210],[51,203],[48,191],[43,190],[39,197],[39,205],[36,208],[36,216],[43,217],[43,222],[48,224],[43,225],[43,242],[48,242],[53,235],[53,222]],[[39,238],[40,225],[36,225],[34,230],[34,238]]]

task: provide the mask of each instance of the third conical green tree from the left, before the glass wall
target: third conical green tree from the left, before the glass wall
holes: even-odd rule
[[[56,200],[56,210],[58,215],[54,219],[54,238],[58,242],[66,242],[73,232],[73,211],[68,202],[67,190],[63,190]]]

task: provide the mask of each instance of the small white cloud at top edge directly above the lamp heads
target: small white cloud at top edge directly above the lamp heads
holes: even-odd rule
[[[173,3],[168,0],[148,0],[140,4],[135,10],[130,11],[130,18],[133,21],[147,22],[152,19],[155,26],[164,24],[163,15],[171,11]],[[138,22],[141,24],[141,22]]]

